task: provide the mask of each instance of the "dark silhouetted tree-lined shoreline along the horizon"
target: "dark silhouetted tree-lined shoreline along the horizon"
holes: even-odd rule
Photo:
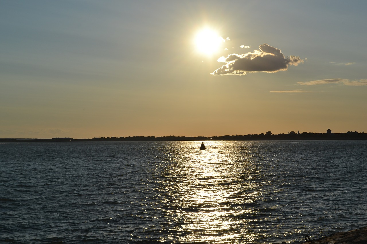
[[[367,140],[367,133],[295,133],[288,134],[248,134],[235,136],[129,136],[129,137],[94,137],[91,139],[75,139],[70,137],[54,137],[47,139],[0,138],[0,142],[52,142],[52,141],[288,141],[288,140]]]

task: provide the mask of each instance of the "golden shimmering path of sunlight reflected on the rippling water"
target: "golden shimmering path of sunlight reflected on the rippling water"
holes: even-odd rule
[[[254,202],[259,193],[254,192],[256,183],[243,181],[243,171],[254,168],[230,143],[204,143],[207,149],[199,150],[200,143],[188,142],[182,152],[184,159],[169,172],[176,180],[172,192],[179,208],[172,215],[176,216],[173,221],[180,223],[174,227],[182,233],[178,242],[251,242],[254,236],[247,232],[243,216],[252,210],[244,204]],[[177,236],[171,238],[177,240]]]

